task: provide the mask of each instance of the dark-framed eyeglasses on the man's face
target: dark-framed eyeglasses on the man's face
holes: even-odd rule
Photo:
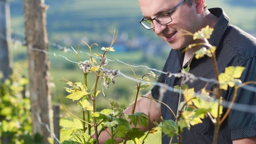
[[[170,22],[172,22],[172,18],[171,18],[171,13],[176,9],[178,8],[185,0],[182,0],[178,5],[176,5],[173,9],[171,9],[170,11],[166,12],[166,13],[163,13],[163,14],[160,14],[158,16],[156,16],[155,18],[153,19],[145,19],[145,18],[142,18],[139,23],[145,27],[146,29],[153,29],[155,28],[154,26],[154,23],[153,23],[153,20],[156,20],[156,22],[158,22],[159,24],[161,25],[166,25],[166,24],[169,24]]]

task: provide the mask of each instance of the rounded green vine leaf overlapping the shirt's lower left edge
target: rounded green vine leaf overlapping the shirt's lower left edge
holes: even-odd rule
[[[174,134],[178,134],[178,125],[173,120],[165,120],[160,126],[162,132],[170,137]]]

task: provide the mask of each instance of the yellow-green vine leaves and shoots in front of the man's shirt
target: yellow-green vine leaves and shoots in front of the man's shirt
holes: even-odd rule
[[[212,122],[215,124],[213,143],[217,143],[218,130],[221,125],[221,121],[223,121],[225,118],[223,117],[222,120],[220,119],[221,114],[223,113],[221,89],[227,90],[228,86],[234,87],[237,83],[242,83],[239,78],[243,73],[244,67],[226,67],[224,73],[218,74],[218,67],[216,64],[217,62],[215,56],[216,47],[210,45],[207,41],[207,39],[210,38],[212,31],[213,28],[210,28],[209,26],[202,28],[200,31],[195,32],[194,34],[185,31],[187,32],[187,35],[192,35],[194,40],[201,39],[203,41],[203,43],[188,45],[186,49],[190,49],[198,45],[204,45],[201,49],[195,52],[195,58],[200,59],[206,55],[212,59],[217,77],[217,91],[209,92],[203,88],[201,89],[201,92],[196,93],[194,88],[189,88],[188,85],[185,85],[182,82],[181,85],[174,87],[175,92],[183,92],[185,101],[179,103],[178,115],[175,116],[176,120],[164,120],[160,127],[162,132],[170,137],[173,137],[174,134],[177,134],[179,144],[181,144],[182,129],[190,129],[191,125],[193,126],[202,123],[202,119],[205,117],[210,117]],[[182,77],[182,81],[184,81],[185,78],[187,79],[186,81],[193,81],[193,79],[195,79],[193,75],[189,74],[190,63],[191,61],[189,62],[187,68],[183,68],[181,73],[176,75]],[[216,95],[217,98],[211,97],[210,95]],[[230,108],[231,107],[229,107],[229,109]]]

